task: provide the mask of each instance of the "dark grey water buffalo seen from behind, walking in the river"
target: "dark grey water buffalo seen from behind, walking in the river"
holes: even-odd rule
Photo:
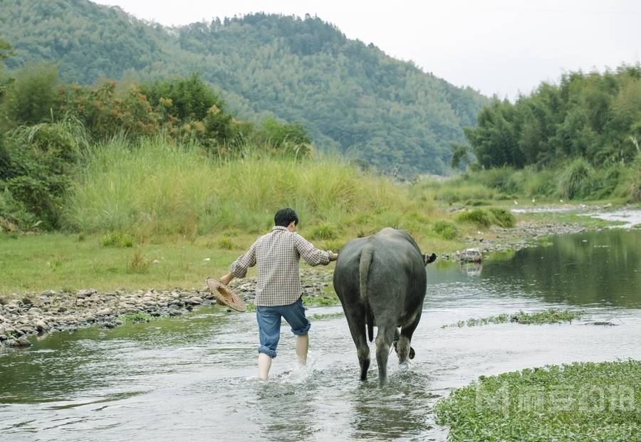
[[[425,265],[435,258],[434,253],[421,253],[408,233],[394,228],[354,239],[338,253],[334,290],[356,344],[361,380],[367,379],[370,367],[365,327],[370,342],[373,327],[378,327],[376,361],[381,385],[387,383],[387,356],[395,340],[399,362],[413,357],[410,341],[421,319],[427,289]]]

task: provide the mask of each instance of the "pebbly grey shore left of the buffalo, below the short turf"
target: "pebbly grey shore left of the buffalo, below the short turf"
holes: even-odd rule
[[[305,295],[322,296],[331,277],[330,273],[301,272]],[[254,302],[255,286],[255,278],[231,283],[234,292],[250,304]],[[123,324],[127,317],[135,320],[178,316],[201,305],[215,304],[214,295],[205,286],[192,290],[115,290],[107,293],[95,289],[75,293],[46,290],[11,300],[0,298],[0,346],[28,347],[30,335],[71,332],[93,325],[113,328]]]

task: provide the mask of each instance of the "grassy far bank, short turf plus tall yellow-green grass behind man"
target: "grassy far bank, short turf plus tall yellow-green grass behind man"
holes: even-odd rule
[[[283,206],[298,211],[303,236],[335,251],[391,226],[426,252],[449,253],[516,222],[505,202],[452,212],[422,184],[326,155],[249,148],[229,160],[162,138],[116,138],[83,155],[61,208],[66,233],[0,233],[0,294],[199,287],[225,273]]]

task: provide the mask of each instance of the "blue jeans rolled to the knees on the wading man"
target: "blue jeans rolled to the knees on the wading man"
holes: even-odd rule
[[[275,307],[256,307],[256,321],[259,325],[259,353],[269,357],[276,357],[276,347],[281,339],[281,318],[285,318],[291,325],[291,332],[294,335],[305,335],[311,327],[311,323],[305,317],[303,301],[298,298],[290,305],[276,305]]]

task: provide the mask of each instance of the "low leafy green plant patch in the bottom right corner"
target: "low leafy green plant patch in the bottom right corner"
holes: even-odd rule
[[[640,361],[524,369],[437,403],[449,441],[633,441],[641,432]]]

